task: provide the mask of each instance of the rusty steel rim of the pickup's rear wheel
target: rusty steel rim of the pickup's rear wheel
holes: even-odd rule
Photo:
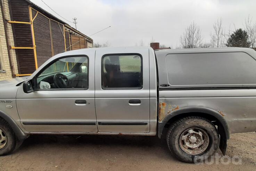
[[[198,155],[209,146],[209,136],[201,128],[189,128],[182,132],[179,138],[182,151],[190,155]]]

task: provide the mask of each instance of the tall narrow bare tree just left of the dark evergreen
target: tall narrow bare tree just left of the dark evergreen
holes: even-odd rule
[[[214,47],[224,47],[225,46],[225,37],[222,28],[222,18],[217,19],[213,24],[214,32],[210,34],[211,43]]]

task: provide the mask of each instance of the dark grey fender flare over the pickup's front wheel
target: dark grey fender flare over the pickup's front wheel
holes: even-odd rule
[[[24,139],[26,139],[28,136],[19,128],[19,126],[17,125],[17,123],[7,114],[5,114],[4,112],[0,111],[0,117],[2,117],[3,119],[5,119],[10,127],[13,129],[15,135],[17,136],[17,138],[19,139],[19,141],[23,141]]]

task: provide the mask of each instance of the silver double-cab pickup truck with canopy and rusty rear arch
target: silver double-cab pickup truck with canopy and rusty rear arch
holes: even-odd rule
[[[0,82],[0,155],[31,134],[158,136],[195,162],[256,131],[256,51],[96,48],[68,51]]]

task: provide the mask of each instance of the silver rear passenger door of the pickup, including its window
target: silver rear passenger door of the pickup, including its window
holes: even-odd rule
[[[99,132],[149,132],[148,49],[99,49],[95,63]]]

